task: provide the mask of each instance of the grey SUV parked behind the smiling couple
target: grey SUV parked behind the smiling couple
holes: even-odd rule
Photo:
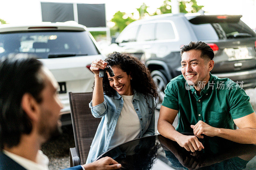
[[[256,87],[256,34],[241,15],[162,14],[132,22],[117,37],[117,51],[149,68],[160,90],[181,74],[180,47],[203,41],[215,53],[212,74]]]

